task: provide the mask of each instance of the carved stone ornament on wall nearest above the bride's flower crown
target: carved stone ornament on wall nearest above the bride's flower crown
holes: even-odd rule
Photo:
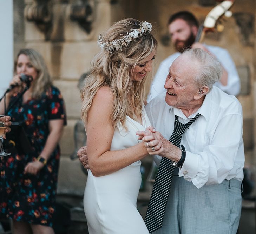
[[[77,21],[78,24],[87,32],[91,31],[91,24],[93,21],[93,0],[81,0],[80,3],[71,5],[70,19]]]

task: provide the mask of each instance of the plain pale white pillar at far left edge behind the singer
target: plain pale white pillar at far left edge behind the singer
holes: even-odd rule
[[[13,1],[0,1],[0,96],[13,76]]]

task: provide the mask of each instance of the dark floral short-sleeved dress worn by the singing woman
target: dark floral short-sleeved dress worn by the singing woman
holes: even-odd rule
[[[17,99],[13,96],[11,103]],[[8,111],[13,122],[19,122],[33,151],[0,158],[0,213],[17,221],[52,226],[59,168],[59,145],[37,175],[24,174],[28,162],[36,160],[49,135],[49,121],[63,119],[66,124],[64,101],[60,91],[52,86],[39,100],[28,100]]]

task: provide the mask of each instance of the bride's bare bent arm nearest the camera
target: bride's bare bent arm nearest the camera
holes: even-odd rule
[[[94,96],[88,112],[87,153],[88,163],[94,176],[118,171],[148,155],[143,143],[123,150],[110,151],[114,135],[110,118],[113,100],[110,88],[101,87]]]

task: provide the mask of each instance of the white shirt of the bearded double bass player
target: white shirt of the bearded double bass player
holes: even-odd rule
[[[235,63],[233,62],[229,52],[226,49],[217,46],[204,46],[216,56],[216,58],[221,62],[222,66],[228,72],[228,83],[226,86],[223,86],[220,82],[216,82],[215,86],[220,88],[222,91],[229,95],[238,95],[240,93],[240,78],[238,76]],[[152,81],[150,87],[150,93],[147,96],[147,102],[155,98],[159,94],[165,93],[164,83],[166,76],[169,72],[169,67],[172,65],[172,62],[180,55],[179,52],[176,52],[163,60],[156,72],[156,75]]]

